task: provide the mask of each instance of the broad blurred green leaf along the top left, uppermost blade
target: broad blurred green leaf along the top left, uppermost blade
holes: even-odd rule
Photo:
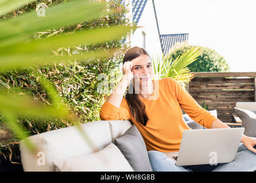
[[[45,17],[36,11],[0,23],[0,46],[28,39],[29,35],[48,29],[99,18],[113,11],[103,11],[105,3],[77,0],[45,9]]]

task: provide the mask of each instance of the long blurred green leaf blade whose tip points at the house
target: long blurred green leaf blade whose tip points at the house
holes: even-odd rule
[[[59,47],[73,47],[77,45],[92,45],[106,41],[121,39],[131,29],[130,26],[111,26],[104,28],[78,31],[73,34],[64,34],[56,37],[42,38],[29,42],[18,42],[12,45],[0,46],[0,55],[15,54],[47,54]],[[1,57],[0,57],[1,60]]]

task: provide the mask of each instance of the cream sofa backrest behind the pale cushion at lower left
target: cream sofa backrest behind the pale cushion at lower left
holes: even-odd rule
[[[100,150],[110,144],[111,132],[108,121],[80,124],[87,139],[76,126],[52,130],[28,137],[37,146],[37,152],[30,152],[24,140],[20,142],[21,162],[24,171],[54,171],[52,162],[63,158],[81,156]],[[88,141],[91,142],[91,145]]]

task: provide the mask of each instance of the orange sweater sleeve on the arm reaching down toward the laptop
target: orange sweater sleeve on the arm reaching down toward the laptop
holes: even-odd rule
[[[170,78],[172,82],[173,90],[175,91],[177,101],[179,102],[181,108],[191,117],[192,120],[196,121],[198,124],[204,126],[205,128],[211,128],[212,122],[218,120],[206,109],[203,109],[195,99],[184,89],[183,86],[179,84],[175,79]]]

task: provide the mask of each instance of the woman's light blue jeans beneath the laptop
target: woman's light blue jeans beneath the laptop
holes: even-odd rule
[[[165,153],[150,150],[148,155],[153,172],[253,172],[256,170],[256,154],[242,143],[234,161],[218,165],[176,166]]]

